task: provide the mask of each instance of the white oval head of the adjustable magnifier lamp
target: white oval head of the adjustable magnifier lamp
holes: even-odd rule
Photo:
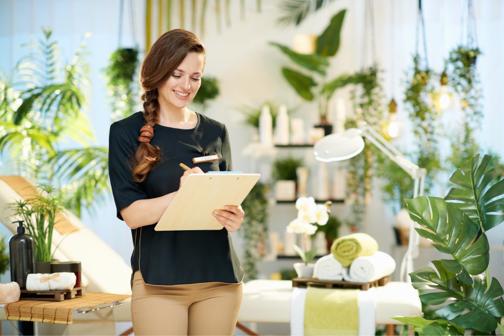
[[[313,145],[315,158],[323,162],[350,159],[364,149],[362,132],[357,128],[349,128],[342,133],[325,136]]]

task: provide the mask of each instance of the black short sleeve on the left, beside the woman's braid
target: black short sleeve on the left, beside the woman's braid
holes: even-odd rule
[[[137,182],[133,181],[131,158],[136,151],[128,130],[119,122],[110,125],[108,139],[108,173],[110,186],[117,209],[117,218],[122,216],[120,211],[139,199],[146,199],[147,194]]]

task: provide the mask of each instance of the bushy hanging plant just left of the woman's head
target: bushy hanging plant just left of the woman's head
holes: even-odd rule
[[[103,70],[110,105],[112,121],[125,118],[136,112],[137,85],[134,85],[138,66],[138,49],[119,47],[109,57],[109,64]]]

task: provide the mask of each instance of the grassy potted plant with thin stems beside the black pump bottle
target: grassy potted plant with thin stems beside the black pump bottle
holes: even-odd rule
[[[35,269],[37,273],[50,273],[53,258],[52,232],[57,215],[65,211],[61,195],[50,185],[40,184],[37,193],[26,199],[17,199],[6,207],[13,217],[22,220],[27,234],[35,242]]]

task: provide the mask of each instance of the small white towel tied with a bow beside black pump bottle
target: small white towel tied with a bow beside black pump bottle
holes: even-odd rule
[[[74,289],[77,277],[72,272],[32,273],[26,278],[28,291],[60,291]]]

